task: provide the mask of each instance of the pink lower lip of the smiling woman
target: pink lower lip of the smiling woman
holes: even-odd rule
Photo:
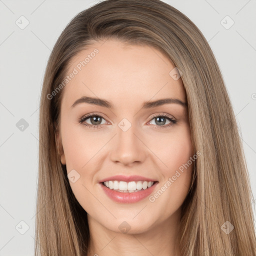
[[[108,187],[104,186],[102,183],[99,183],[99,184],[101,185],[103,191],[106,193],[106,195],[108,195],[110,199],[116,202],[132,203],[132,202],[140,201],[145,197],[149,196],[153,192],[157,183],[158,182],[155,182],[153,185],[151,185],[146,189],[141,188],[141,190],[137,192],[131,192],[131,193],[118,192],[113,189],[109,189]]]

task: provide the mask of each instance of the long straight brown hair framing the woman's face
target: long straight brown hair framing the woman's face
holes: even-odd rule
[[[219,67],[195,24],[160,0],[99,2],[78,13],[53,47],[40,98],[35,254],[87,253],[87,215],[71,191],[56,139],[59,84],[73,56],[94,40],[112,38],[152,46],[182,72],[192,143],[201,155],[182,204],[181,255],[256,255],[253,196]],[[234,229],[224,232],[230,224]]]

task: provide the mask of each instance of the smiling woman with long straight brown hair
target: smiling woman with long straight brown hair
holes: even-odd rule
[[[105,0],[70,21],[39,140],[36,255],[256,255],[219,67],[172,6]]]

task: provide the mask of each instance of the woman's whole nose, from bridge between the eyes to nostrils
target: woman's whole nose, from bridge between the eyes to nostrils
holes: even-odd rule
[[[125,165],[143,161],[145,148],[140,141],[136,125],[123,118],[116,127],[116,136],[111,150],[111,160]]]

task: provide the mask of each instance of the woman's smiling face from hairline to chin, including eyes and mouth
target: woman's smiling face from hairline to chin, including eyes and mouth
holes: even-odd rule
[[[117,40],[94,42],[69,63],[61,161],[89,221],[103,228],[139,233],[178,220],[193,150],[173,68],[157,49]]]

